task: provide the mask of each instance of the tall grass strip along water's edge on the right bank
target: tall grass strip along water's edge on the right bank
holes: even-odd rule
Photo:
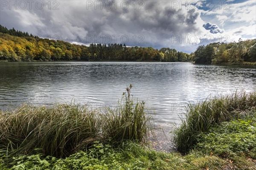
[[[187,152],[198,141],[202,132],[221,122],[239,116],[241,111],[256,107],[256,92],[236,92],[232,95],[209,97],[197,105],[189,104],[185,118],[174,132],[177,150]]]

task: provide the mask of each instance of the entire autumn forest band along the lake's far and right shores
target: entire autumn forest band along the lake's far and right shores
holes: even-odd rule
[[[256,39],[201,45],[191,54],[174,48],[125,44],[76,45],[33,36],[0,25],[0,61],[158,61],[256,65]]]

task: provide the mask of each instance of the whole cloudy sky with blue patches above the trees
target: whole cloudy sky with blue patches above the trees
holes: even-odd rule
[[[175,48],[256,38],[256,0],[0,0],[0,24],[75,44]]]

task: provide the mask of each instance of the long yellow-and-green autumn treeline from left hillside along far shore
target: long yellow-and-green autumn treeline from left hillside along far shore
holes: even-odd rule
[[[172,48],[127,47],[125,44],[75,45],[0,26],[0,60],[5,61],[190,61]]]

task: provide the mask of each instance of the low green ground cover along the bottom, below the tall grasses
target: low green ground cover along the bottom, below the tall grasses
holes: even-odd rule
[[[94,142],[66,158],[43,154],[20,155],[0,169],[7,170],[255,170],[256,112],[253,117],[223,122],[202,133],[200,142],[186,155],[165,153],[134,142],[118,147]],[[214,134],[214,135],[213,135]],[[199,139],[199,138],[198,138]],[[7,168],[8,166],[8,168]]]

